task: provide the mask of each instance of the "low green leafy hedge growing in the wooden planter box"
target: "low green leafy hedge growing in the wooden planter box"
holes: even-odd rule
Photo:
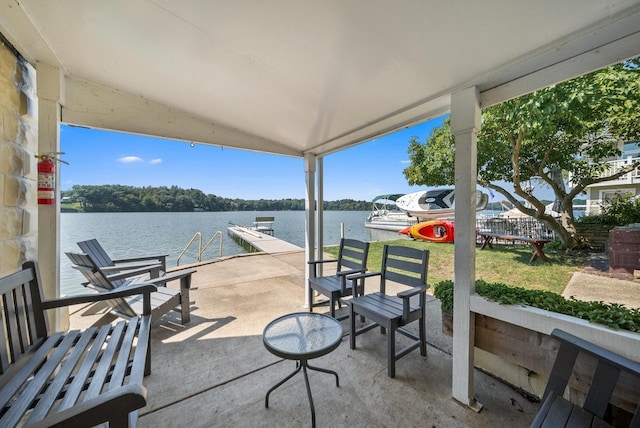
[[[476,281],[476,292],[503,305],[527,305],[602,324],[615,330],[640,332],[640,310],[629,309],[617,303],[583,302],[573,297],[567,300],[550,291],[510,287],[481,279]],[[436,283],[433,295],[440,300],[443,311],[453,312],[453,281]]]

